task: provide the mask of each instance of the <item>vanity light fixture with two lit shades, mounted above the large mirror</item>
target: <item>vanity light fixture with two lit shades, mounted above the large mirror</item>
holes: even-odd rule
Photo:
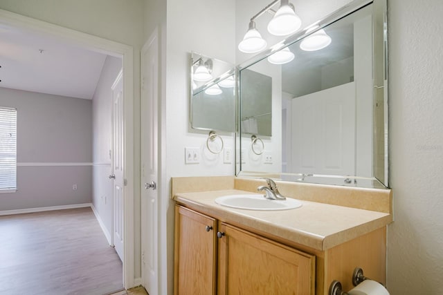
[[[275,12],[271,7],[278,1],[280,1],[280,8]],[[300,17],[296,15],[293,5],[289,3],[289,0],[274,0],[249,21],[248,31],[246,35],[244,35],[243,40],[238,44],[238,49],[242,51],[242,53],[258,53],[266,48],[266,40],[262,38],[260,32],[255,28],[255,19],[263,15],[264,12],[269,12],[274,15],[273,19],[269,21],[267,28],[268,32],[275,36],[290,35],[296,32],[302,24]]]

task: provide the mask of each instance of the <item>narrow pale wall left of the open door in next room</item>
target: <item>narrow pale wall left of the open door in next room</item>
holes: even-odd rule
[[[113,222],[113,190],[112,181],[108,178],[111,174],[111,158],[109,151],[112,149],[112,90],[111,86],[122,68],[122,59],[107,56],[100,74],[100,79],[93,95],[92,101],[92,178],[93,192],[92,204],[107,230],[107,237],[111,236]]]

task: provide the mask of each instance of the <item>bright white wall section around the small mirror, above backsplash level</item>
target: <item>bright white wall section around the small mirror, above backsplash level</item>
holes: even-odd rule
[[[234,2],[168,1],[166,153],[170,176],[233,175],[234,165],[224,164],[222,153],[215,156],[206,149],[208,131],[190,130],[188,66],[192,50],[235,64]],[[233,148],[233,135],[221,135],[225,147]],[[200,164],[185,164],[185,147],[200,149]]]

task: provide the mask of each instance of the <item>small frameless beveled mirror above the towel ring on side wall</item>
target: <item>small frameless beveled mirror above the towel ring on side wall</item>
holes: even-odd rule
[[[233,64],[191,53],[190,122],[192,129],[235,132]]]

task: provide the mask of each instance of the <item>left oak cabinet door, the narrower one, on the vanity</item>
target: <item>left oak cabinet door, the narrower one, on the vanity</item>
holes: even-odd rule
[[[174,294],[215,294],[217,223],[184,207],[175,207]]]

